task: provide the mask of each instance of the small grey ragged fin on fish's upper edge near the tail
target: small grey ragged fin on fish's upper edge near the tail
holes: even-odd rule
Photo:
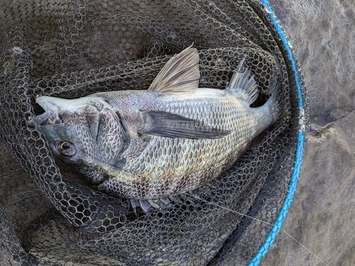
[[[231,82],[229,82],[229,86],[226,87],[226,89],[242,94],[249,104],[253,104],[256,98],[258,98],[258,86],[253,75],[249,78],[251,71],[248,68],[244,72],[241,72],[243,65],[244,60],[241,60],[238,65],[238,70],[234,72],[231,77]]]

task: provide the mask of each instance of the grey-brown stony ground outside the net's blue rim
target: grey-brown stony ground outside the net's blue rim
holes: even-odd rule
[[[355,2],[269,4],[300,63],[312,122],[283,229],[319,258],[281,231],[260,265],[355,265]]]

